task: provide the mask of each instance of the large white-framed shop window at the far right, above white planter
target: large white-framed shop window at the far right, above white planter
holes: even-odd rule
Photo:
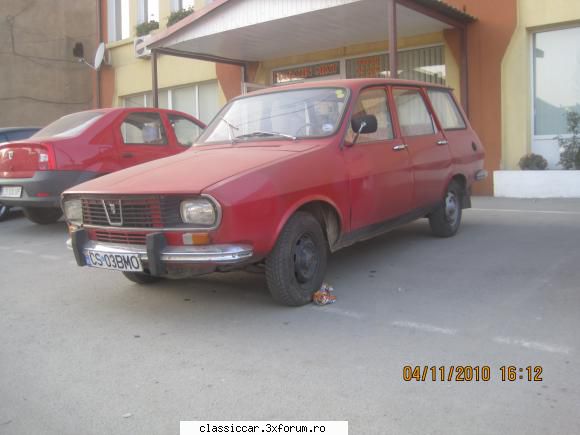
[[[580,113],[580,27],[534,34],[534,134],[568,134],[568,112]]]

